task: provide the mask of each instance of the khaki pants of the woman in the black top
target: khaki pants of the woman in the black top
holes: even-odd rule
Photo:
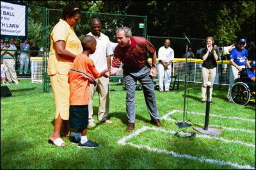
[[[207,81],[211,81],[211,86],[210,86],[210,101],[212,101],[212,90],[213,90],[213,82],[216,76],[216,67],[213,69],[207,69],[205,67],[202,67],[202,101],[206,101],[205,95],[206,95],[206,88],[207,88]]]

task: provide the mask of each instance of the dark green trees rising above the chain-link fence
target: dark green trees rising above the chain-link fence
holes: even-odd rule
[[[144,15],[148,17],[148,36],[182,37],[182,32],[186,32],[189,38],[223,39],[221,46],[241,37],[255,42],[255,1],[20,2],[60,10],[66,4],[76,3],[82,11]]]

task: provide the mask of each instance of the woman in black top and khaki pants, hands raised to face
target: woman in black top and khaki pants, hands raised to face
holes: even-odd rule
[[[216,49],[216,45],[214,45],[214,39],[209,36],[205,39],[206,47],[202,50],[202,60],[204,60],[202,64],[202,89],[201,89],[201,103],[205,103],[206,100],[206,88],[207,88],[207,81],[211,81],[210,86],[210,98],[209,100],[211,103],[212,101],[212,90],[213,90],[213,82],[216,76],[216,67],[217,67],[217,60],[219,52]]]

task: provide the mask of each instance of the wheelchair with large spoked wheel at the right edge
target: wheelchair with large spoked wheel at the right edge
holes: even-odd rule
[[[239,71],[239,78],[235,80],[232,86],[230,99],[232,103],[246,105],[249,101],[255,104],[255,87],[249,87],[245,82],[250,82],[250,78],[244,74],[245,69]]]

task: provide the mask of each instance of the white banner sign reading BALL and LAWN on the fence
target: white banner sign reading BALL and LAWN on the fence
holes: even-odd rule
[[[27,36],[26,5],[1,1],[1,38]]]

